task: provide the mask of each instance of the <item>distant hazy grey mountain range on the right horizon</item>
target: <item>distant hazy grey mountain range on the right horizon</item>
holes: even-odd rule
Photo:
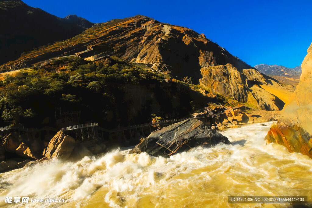
[[[261,73],[276,76],[298,76],[301,74],[301,66],[295,68],[287,68],[279,65],[259,64],[254,66]]]

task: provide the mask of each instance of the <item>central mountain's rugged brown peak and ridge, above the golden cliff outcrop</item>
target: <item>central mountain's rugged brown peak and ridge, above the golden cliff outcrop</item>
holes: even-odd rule
[[[72,39],[42,49],[53,53],[50,57],[45,55],[34,59],[34,56],[40,55],[39,51],[35,51],[31,56],[22,56],[20,60],[31,65],[38,60],[63,55],[64,52],[67,52],[66,55],[79,53],[83,58],[105,52],[129,62],[159,63],[153,67],[172,70],[174,75],[192,74],[197,78],[200,77],[200,69],[207,66],[231,63],[239,69],[251,68],[203,34],[142,15],[102,23]]]

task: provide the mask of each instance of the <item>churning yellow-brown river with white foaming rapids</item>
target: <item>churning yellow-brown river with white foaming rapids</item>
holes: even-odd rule
[[[228,196],[308,196],[312,159],[265,144],[271,122],[221,133],[233,145],[196,148],[170,158],[116,150],[78,162],[50,160],[0,174],[0,206],[21,207],[291,207],[228,204]],[[29,203],[4,202],[29,196]],[[31,199],[65,199],[31,202]],[[14,198],[13,198],[14,199]]]

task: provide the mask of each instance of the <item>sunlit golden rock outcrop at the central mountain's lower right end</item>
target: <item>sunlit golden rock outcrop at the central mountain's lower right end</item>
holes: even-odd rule
[[[281,110],[285,104],[278,97],[260,87],[260,85],[281,87],[276,80],[255,69],[239,70],[232,64],[227,64],[204,67],[201,69],[201,74],[200,85],[242,103],[251,99],[248,96],[252,96],[257,106],[263,110]]]

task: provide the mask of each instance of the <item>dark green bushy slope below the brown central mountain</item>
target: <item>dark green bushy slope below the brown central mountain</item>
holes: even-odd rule
[[[81,123],[115,128],[150,122],[152,114],[184,117],[209,102],[227,101],[221,95],[204,96],[197,85],[166,81],[165,75],[124,61],[106,61],[67,57],[38,71],[7,75],[0,81],[0,123],[54,126],[55,108],[61,107],[62,111],[81,110]]]

